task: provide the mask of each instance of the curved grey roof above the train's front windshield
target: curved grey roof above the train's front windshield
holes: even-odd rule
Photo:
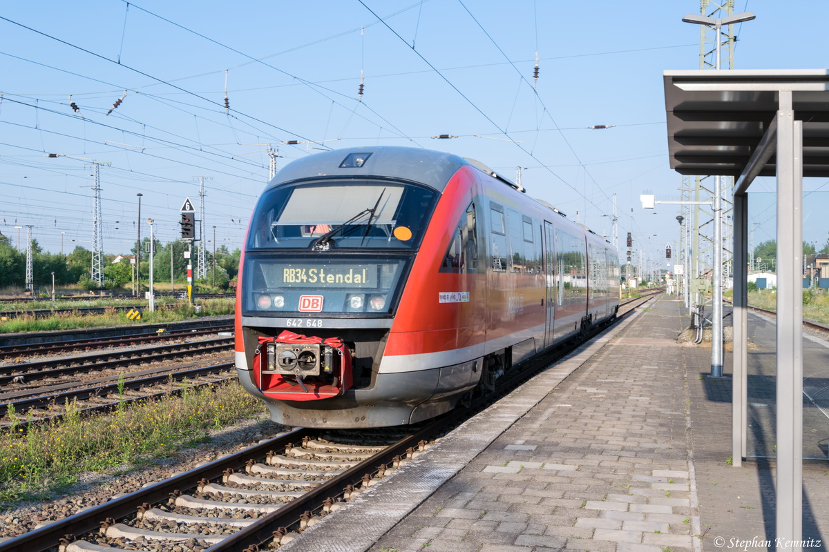
[[[487,175],[502,180],[521,190],[502,175],[498,175],[480,161],[465,159],[444,151],[424,150],[419,147],[375,146],[351,147],[324,151],[292,161],[279,170],[270,185],[293,180],[325,176],[388,176],[412,180],[443,192],[449,179],[462,166],[474,166]],[[523,190],[521,190],[523,191]]]

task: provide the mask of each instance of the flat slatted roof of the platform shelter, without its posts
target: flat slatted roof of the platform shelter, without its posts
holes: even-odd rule
[[[668,151],[682,175],[739,176],[793,93],[803,122],[803,176],[829,176],[829,70],[665,71]],[[776,174],[772,156],[759,176]]]

